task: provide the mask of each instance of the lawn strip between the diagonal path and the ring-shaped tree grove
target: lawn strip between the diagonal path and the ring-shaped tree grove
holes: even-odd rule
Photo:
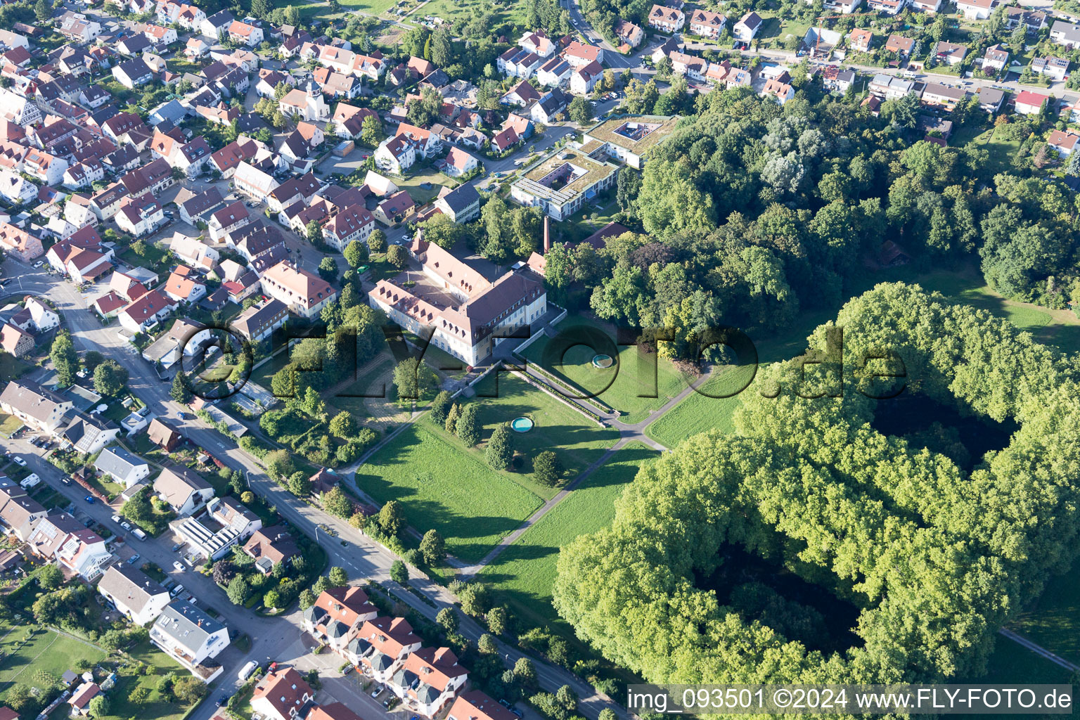
[[[637,474],[642,463],[658,457],[642,443],[631,443],[581,481],[563,502],[544,515],[513,545],[484,568],[481,579],[514,604],[527,622],[556,622],[551,607],[558,548],[586,532],[607,527],[615,517],[615,501]]]

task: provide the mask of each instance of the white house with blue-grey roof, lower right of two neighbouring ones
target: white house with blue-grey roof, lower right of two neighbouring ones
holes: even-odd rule
[[[221,674],[213,662],[229,646],[229,630],[190,602],[165,606],[150,628],[150,641],[204,682]]]

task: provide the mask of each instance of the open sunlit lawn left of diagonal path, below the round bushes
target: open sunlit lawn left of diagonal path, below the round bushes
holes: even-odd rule
[[[356,484],[379,503],[400,500],[409,525],[435,528],[447,551],[465,561],[483,558],[542,503],[424,421],[361,466]]]

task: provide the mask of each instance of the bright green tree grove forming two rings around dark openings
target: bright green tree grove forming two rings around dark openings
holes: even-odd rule
[[[851,300],[809,345],[759,371],[733,434],[692,437],[642,467],[612,525],[561,552],[559,614],[648,681],[977,676],[997,629],[1077,555],[1075,358],[903,284]],[[876,430],[890,406],[870,397],[901,362],[919,397],[1020,423],[1011,444],[969,473]],[[753,612],[760,588],[721,601],[699,587],[728,547],[851,603],[861,644],[810,649]]]

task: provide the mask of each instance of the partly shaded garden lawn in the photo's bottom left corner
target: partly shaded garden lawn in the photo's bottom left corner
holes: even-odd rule
[[[105,657],[105,651],[97,646],[40,627],[30,642],[16,650],[29,631],[26,625],[0,624],[0,652],[4,653],[0,661],[0,692],[16,682],[43,691],[58,683],[80,657],[92,663]]]

